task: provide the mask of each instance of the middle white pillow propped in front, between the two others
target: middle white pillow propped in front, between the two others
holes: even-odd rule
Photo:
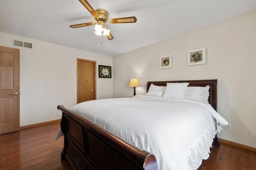
[[[189,83],[167,83],[163,98],[184,99]]]

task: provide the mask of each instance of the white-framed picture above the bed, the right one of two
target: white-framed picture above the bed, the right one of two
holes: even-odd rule
[[[205,63],[205,48],[188,51],[188,66]]]

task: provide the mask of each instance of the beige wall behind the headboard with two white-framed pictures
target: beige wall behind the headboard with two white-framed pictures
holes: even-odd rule
[[[202,47],[206,64],[187,66],[187,51]],[[256,147],[255,50],[256,11],[115,56],[113,96],[133,95],[130,78],[140,80],[137,94],[146,93],[147,81],[218,79],[218,113],[232,127],[219,137]],[[172,68],[160,70],[164,55],[172,55]]]

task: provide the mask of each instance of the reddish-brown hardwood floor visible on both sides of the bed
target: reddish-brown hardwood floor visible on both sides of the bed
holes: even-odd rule
[[[0,170],[70,170],[60,160],[63,137],[55,141],[58,127],[56,122],[0,135]],[[256,152],[221,143],[198,170],[256,170]]]

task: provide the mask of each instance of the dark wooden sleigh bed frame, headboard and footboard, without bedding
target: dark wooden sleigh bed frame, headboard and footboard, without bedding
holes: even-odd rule
[[[208,102],[216,110],[217,80],[185,80],[148,82],[147,91],[151,84],[166,86],[167,82],[188,82],[188,86],[210,86]],[[60,127],[64,133],[64,148],[61,160],[67,160],[72,169],[76,170],[157,170],[158,165],[153,154],[138,149],[122,139],[59,105],[62,111]],[[216,136],[213,142],[219,146]]]

